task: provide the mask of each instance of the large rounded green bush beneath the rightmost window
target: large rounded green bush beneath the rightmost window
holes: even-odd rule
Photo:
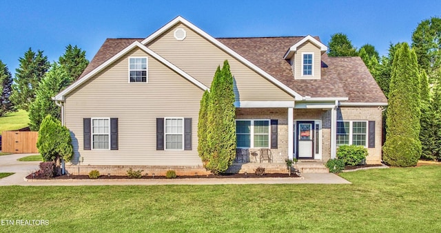
[[[366,161],[367,148],[365,146],[342,145],[338,146],[337,158],[342,159],[347,166],[356,166]]]

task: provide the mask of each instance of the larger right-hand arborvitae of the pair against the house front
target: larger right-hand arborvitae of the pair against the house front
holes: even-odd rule
[[[236,157],[236,107],[234,107],[233,76],[228,61],[216,69],[208,104],[209,161],[205,168],[223,173]]]

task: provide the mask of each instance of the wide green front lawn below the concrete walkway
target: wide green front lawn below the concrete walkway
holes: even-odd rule
[[[6,186],[6,232],[440,232],[441,166],[342,173],[353,184]]]

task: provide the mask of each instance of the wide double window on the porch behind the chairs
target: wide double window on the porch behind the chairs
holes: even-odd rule
[[[269,147],[269,120],[236,120],[238,148]]]

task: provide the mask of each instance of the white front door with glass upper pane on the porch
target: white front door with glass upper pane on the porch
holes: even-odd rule
[[[297,157],[314,159],[314,122],[297,122]]]

